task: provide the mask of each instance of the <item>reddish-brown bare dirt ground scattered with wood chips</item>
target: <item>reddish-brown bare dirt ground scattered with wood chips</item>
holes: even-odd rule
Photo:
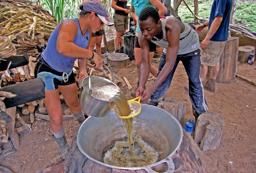
[[[112,38],[113,39],[113,38]],[[238,64],[237,73],[253,82],[256,82],[256,62],[254,65]],[[153,58],[153,65],[158,67],[159,58]],[[110,68],[112,72],[127,77],[132,89],[127,85],[120,86],[127,97],[133,99],[131,92],[137,86],[135,62],[124,68]],[[146,87],[153,83],[152,75],[148,78]],[[181,121],[194,118],[188,91],[184,85],[188,84],[185,69],[180,63],[176,69],[167,98],[176,97],[187,102],[186,114]],[[219,148],[203,152],[205,172],[253,173],[256,170],[256,86],[235,77],[229,83],[216,83],[215,93],[205,90],[210,111],[217,113],[226,120]],[[21,116],[29,123],[29,116]],[[47,120],[35,120],[32,131],[23,132],[19,138],[19,149],[7,156],[0,155],[0,166],[6,167],[15,173],[35,173],[43,167],[60,163],[61,152],[52,137]],[[18,125],[18,124],[17,124]],[[75,119],[64,120],[64,126],[69,145],[79,124]],[[97,172],[97,171],[96,171]],[[191,172],[193,172],[191,170]]]

